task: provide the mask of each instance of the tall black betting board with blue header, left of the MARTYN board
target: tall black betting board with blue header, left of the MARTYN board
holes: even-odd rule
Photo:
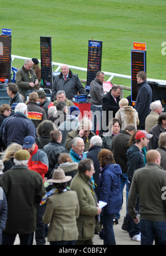
[[[90,91],[90,83],[95,79],[96,73],[101,71],[102,41],[90,41],[87,60],[86,91]]]

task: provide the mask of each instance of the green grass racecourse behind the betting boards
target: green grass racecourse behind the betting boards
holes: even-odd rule
[[[40,36],[50,36],[54,62],[87,68],[93,38],[103,41],[101,70],[123,75],[131,75],[133,42],[144,42],[148,77],[166,80],[165,13],[165,0],[2,0],[0,21],[2,28],[12,29],[13,55],[40,59]],[[13,62],[14,67],[22,65]],[[73,72],[86,79],[85,72]],[[131,85],[120,78],[112,82]]]

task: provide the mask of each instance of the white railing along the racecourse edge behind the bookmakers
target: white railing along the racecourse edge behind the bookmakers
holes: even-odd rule
[[[28,57],[22,57],[22,56],[12,55],[12,62],[14,61],[14,58],[17,58],[17,59],[19,59],[19,60],[25,60],[25,59],[28,58]],[[38,60],[38,61],[41,62],[40,60]],[[52,62],[52,65],[53,65],[53,66],[58,66],[58,67],[56,68],[55,72],[58,72],[63,64],[64,64],[64,63]],[[76,67],[76,66],[71,66],[71,65],[68,65],[68,66],[69,66],[69,68],[72,68],[72,69],[74,69],[74,70],[79,70],[79,71],[87,72],[87,68],[84,68],[84,67]],[[121,75],[121,74],[112,73],[112,72],[106,72],[106,71],[103,71],[103,72],[105,73],[106,76],[110,76],[110,77],[108,78],[107,82],[110,82],[113,77],[126,78],[126,79],[130,79],[130,80],[131,80],[131,76]],[[159,80],[159,79],[147,78],[147,81],[157,82],[157,83],[166,85],[166,80]]]

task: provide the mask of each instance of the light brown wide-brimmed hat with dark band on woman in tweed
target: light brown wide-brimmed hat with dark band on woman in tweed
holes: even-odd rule
[[[53,178],[49,179],[48,182],[50,182],[50,183],[65,183],[65,182],[68,182],[71,179],[72,179],[71,176],[66,176],[65,175],[63,169],[58,168],[58,169],[54,170]]]

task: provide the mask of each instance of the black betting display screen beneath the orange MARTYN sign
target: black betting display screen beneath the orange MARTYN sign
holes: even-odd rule
[[[146,51],[131,50],[131,101],[135,102],[137,98],[138,85],[137,73],[146,72]]]

